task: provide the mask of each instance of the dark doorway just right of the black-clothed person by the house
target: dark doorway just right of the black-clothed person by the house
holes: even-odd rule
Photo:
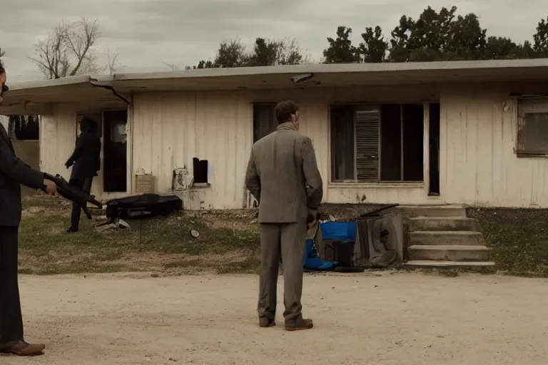
[[[127,191],[128,110],[106,111],[103,114],[103,186],[105,192]]]

